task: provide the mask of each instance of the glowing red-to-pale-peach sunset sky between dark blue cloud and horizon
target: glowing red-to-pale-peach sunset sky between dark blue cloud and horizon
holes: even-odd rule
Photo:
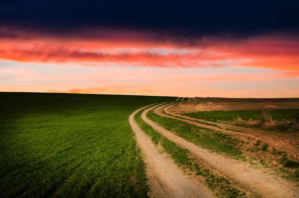
[[[186,36],[167,29],[0,26],[0,91],[298,97],[294,90],[299,36],[290,30]]]

